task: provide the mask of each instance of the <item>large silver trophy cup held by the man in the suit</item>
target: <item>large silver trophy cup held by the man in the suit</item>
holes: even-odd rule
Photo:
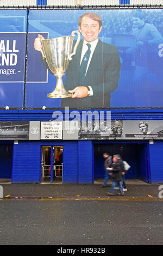
[[[75,33],[78,35],[76,45],[72,53],[72,44]],[[80,41],[80,32],[73,31],[70,36],[61,36],[53,39],[42,39],[42,56],[46,58],[49,69],[54,76],[57,77],[57,84],[55,90],[49,93],[47,96],[51,98],[65,98],[71,97],[71,93],[68,93],[64,87],[62,76],[65,75],[68,63],[72,60],[72,56],[76,54],[76,50]]]

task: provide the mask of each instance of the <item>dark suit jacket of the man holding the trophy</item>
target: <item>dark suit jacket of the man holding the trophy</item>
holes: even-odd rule
[[[74,41],[74,44],[75,43],[76,41]],[[109,108],[110,93],[117,89],[118,80],[120,77],[121,63],[118,48],[98,40],[89,68],[87,69],[84,83],[79,84],[82,47],[83,40],[80,40],[77,53],[73,56],[73,59],[70,60],[70,63],[68,64],[64,86],[67,90],[72,90],[77,86],[91,86],[93,95],[86,96],[81,99],[72,99],[71,97],[67,97],[61,100],[61,107]],[[41,61],[47,66],[45,60]]]

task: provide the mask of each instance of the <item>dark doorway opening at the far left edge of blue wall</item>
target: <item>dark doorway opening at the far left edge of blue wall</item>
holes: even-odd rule
[[[0,144],[0,179],[11,179],[12,144]]]

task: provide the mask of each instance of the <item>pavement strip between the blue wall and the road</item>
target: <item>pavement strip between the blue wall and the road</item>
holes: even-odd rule
[[[16,198],[140,198],[160,199],[163,198],[163,184],[147,184],[141,180],[126,180],[127,191],[124,196],[108,196],[111,181],[104,188],[101,180],[95,180],[94,184],[12,184],[0,180],[0,192],[3,190],[3,199]],[[162,187],[160,187],[162,186]],[[3,189],[2,189],[3,188]],[[118,192],[118,191],[117,191]],[[159,194],[160,192],[160,194]],[[2,197],[1,197],[2,198]],[[161,199],[160,199],[161,200]],[[163,200],[163,199],[162,199]]]

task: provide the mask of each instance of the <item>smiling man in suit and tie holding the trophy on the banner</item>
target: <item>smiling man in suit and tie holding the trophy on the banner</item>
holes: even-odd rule
[[[96,13],[80,16],[78,26],[84,40],[80,40],[66,72],[64,86],[72,96],[62,99],[61,106],[108,108],[110,93],[117,89],[120,77],[118,48],[99,40],[102,19]],[[35,39],[34,47],[41,50],[39,38]],[[48,68],[45,59],[41,61]]]

